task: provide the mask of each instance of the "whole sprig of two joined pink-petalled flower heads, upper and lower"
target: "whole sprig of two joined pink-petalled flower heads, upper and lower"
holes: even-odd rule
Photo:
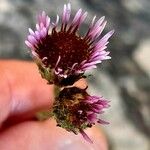
[[[35,31],[29,28],[25,44],[31,49],[41,76],[54,84],[52,114],[57,126],[75,134],[81,133],[92,143],[84,129],[95,123],[108,124],[99,116],[109,107],[109,102],[103,97],[89,95],[87,88],[80,89],[75,83],[85,77],[85,71],[111,58],[106,48],[114,30],[102,36],[105,17],[95,21],[94,16],[87,33],[81,36],[79,28],[86,16],[87,12],[79,9],[71,19],[70,3],[64,5],[61,18],[57,15],[55,22],[43,11],[38,15]]]

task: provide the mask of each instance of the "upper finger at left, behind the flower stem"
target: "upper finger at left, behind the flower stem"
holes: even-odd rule
[[[29,117],[53,104],[53,86],[41,78],[35,64],[0,61],[0,122],[8,117]]]

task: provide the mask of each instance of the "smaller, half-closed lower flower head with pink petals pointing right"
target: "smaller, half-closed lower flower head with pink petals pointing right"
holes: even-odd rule
[[[98,117],[108,107],[107,100],[103,97],[90,96],[86,89],[64,88],[56,98],[53,115],[57,126],[75,134],[81,133],[91,143],[84,129],[92,127],[95,123],[108,124]]]

